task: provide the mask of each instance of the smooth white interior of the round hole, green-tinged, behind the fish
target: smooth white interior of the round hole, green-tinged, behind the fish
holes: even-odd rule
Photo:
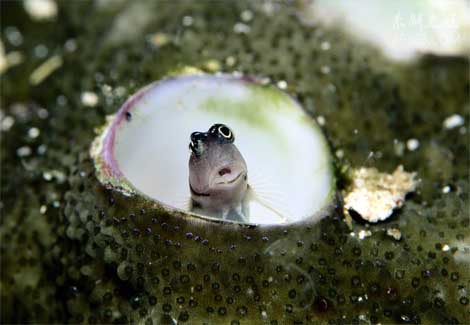
[[[189,136],[215,123],[234,131],[246,160],[257,197],[250,201],[250,223],[297,222],[331,199],[323,134],[274,87],[227,75],[182,76],[151,85],[129,112],[131,119],[117,125],[116,162],[132,186],[163,204],[189,209]]]

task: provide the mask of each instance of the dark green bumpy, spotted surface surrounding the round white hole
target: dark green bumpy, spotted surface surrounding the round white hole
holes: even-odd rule
[[[442,126],[468,118],[468,60],[394,64],[302,26],[280,3],[64,1],[56,23],[1,6],[6,51],[29,57],[2,77],[2,322],[469,322],[469,130]],[[64,63],[32,87],[40,44]],[[326,121],[340,165],[403,164],[422,179],[418,193],[384,223],[356,223],[355,236],[331,216],[222,237],[102,189],[88,157],[94,128],[184,66],[285,81]],[[84,91],[98,105],[84,105]],[[410,138],[420,145],[403,152]]]

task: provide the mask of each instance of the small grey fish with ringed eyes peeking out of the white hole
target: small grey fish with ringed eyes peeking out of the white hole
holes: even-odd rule
[[[289,217],[275,208],[266,195],[248,182],[248,167],[235,145],[234,132],[225,124],[212,125],[207,132],[190,136],[190,210],[223,220],[250,221],[250,206],[261,205],[278,215],[279,223]]]

